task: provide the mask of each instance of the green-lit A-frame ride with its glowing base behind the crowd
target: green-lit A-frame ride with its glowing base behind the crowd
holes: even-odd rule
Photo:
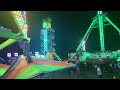
[[[91,25],[89,26],[86,34],[82,38],[81,42],[79,43],[76,53],[71,55],[69,60],[72,60],[74,56],[78,55],[80,61],[86,61],[86,60],[106,60],[108,59],[117,59],[117,61],[120,60],[120,51],[105,51],[105,44],[104,44],[104,30],[103,27],[107,25],[112,25],[120,34],[120,29],[106,16],[106,14],[103,14],[102,11],[97,11],[97,15],[93,18],[93,21]],[[100,47],[101,50],[97,53],[90,53],[86,52],[85,50],[85,44],[88,40],[88,37],[91,33],[91,31],[94,28],[99,28],[99,34],[100,34]]]

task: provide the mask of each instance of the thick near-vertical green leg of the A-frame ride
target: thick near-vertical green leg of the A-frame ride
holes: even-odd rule
[[[104,45],[104,31],[103,31],[103,13],[102,11],[98,11],[98,22],[99,22],[99,33],[100,33],[100,46],[101,51],[105,51],[105,45]]]

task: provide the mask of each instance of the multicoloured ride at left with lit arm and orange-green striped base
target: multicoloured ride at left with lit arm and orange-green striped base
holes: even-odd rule
[[[0,78],[1,79],[31,79],[41,78],[41,74],[46,74],[58,70],[69,69],[75,65],[60,62],[55,60],[42,60],[35,56],[30,56],[29,42],[30,38],[27,37],[28,26],[26,24],[26,12],[25,11],[11,11],[14,20],[19,28],[19,33],[15,34],[6,28],[0,28],[0,37],[7,38],[0,45],[0,50],[5,47],[18,42],[23,50],[23,55],[11,64],[0,64]],[[3,59],[0,59],[3,60]]]

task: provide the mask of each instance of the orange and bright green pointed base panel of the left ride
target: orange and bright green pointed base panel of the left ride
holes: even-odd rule
[[[74,67],[67,62],[31,58],[32,63],[28,63],[25,56],[21,55],[12,65],[0,64],[1,79],[29,79],[37,74]]]

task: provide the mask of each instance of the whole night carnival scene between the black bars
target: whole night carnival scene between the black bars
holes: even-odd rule
[[[119,79],[119,15],[0,12],[0,79]]]

